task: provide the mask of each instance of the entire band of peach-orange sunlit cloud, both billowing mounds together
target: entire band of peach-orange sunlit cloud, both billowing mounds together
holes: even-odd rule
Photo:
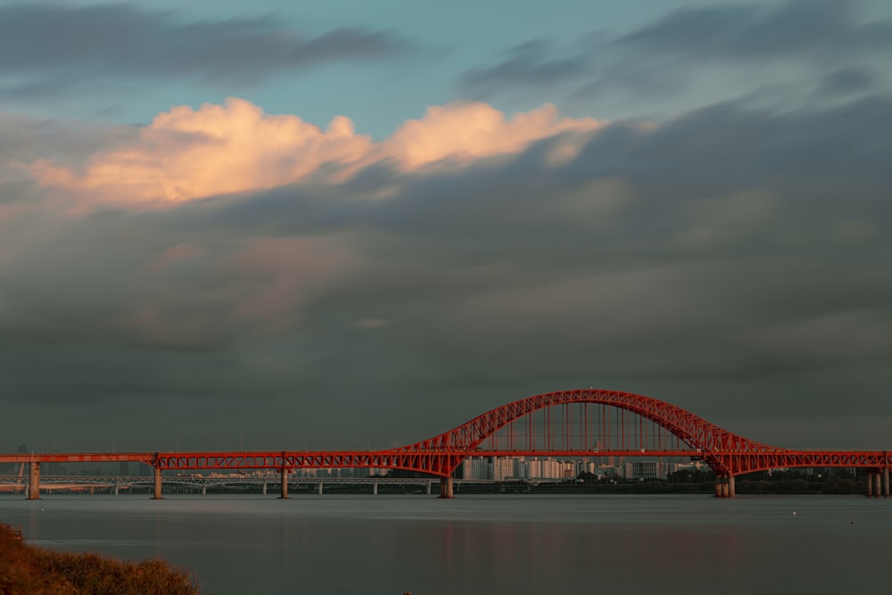
[[[323,129],[230,98],[225,105],[163,112],[135,141],[96,153],[82,170],[48,160],[27,169],[41,185],[74,191],[87,202],[147,206],[282,186],[313,175],[343,181],[381,161],[404,171],[442,161],[467,163],[598,127],[589,118],[560,118],[550,104],[508,118],[485,103],[458,102],[431,107],[424,118],[407,121],[376,143],[357,134],[343,116]]]

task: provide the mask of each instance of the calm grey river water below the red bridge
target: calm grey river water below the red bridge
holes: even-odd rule
[[[796,513],[796,514],[794,514]],[[892,500],[0,496],[59,550],[160,557],[242,593],[880,593]]]

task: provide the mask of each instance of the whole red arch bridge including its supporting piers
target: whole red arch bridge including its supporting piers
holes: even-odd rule
[[[28,497],[40,497],[41,463],[140,462],[161,472],[198,469],[277,469],[282,497],[288,474],[301,468],[390,468],[440,478],[452,497],[452,475],[469,457],[687,457],[715,473],[715,495],[734,496],[734,478],[791,467],[863,469],[868,496],[888,497],[887,450],[794,450],[755,442],[676,407],[640,394],[581,389],[537,394],[491,409],[466,424],[388,450],[276,450],[202,452],[80,452],[0,454],[0,463],[28,463]]]

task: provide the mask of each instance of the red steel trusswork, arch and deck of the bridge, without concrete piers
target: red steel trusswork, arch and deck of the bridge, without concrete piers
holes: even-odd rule
[[[648,419],[663,427],[690,449],[628,449],[624,446],[625,427],[620,428],[622,438],[618,450],[555,450],[558,443],[551,436],[552,420],[550,409],[574,403],[596,403],[609,413],[610,408],[620,409],[639,416],[639,427],[634,426],[630,440],[642,439],[642,419]],[[535,448],[531,438],[533,426],[527,437],[527,448],[513,447],[516,439],[513,426],[516,419],[531,416],[545,409],[548,426],[544,429],[545,449]],[[563,421],[559,425],[573,426],[572,411],[565,408]],[[622,419],[623,416],[617,417]],[[609,426],[608,417],[599,417],[601,438]],[[589,420],[586,415],[585,425]],[[492,438],[505,426],[509,427],[507,450],[487,449],[481,445]],[[637,429],[637,432],[636,432]],[[566,434],[566,432],[565,432]],[[572,445],[565,435],[564,445]],[[764,469],[779,467],[861,467],[885,468],[890,465],[886,450],[789,450],[780,449],[761,442],[732,434],[719,426],[694,415],[690,411],[676,407],[665,401],[658,401],[640,394],[582,389],[544,393],[514,401],[496,409],[491,409],[475,417],[466,424],[449,432],[444,432],[422,442],[409,444],[392,450],[312,450],[312,451],[202,451],[202,452],[81,452],[81,453],[22,453],[0,454],[0,463],[101,463],[101,462],[142,462],[160,469],[257,469],[257,468],[301,468],[301,467],[375,467],[396,468],[420,471],[432,475],[451,475],[463,459],[478,456],[499,457],[607,457],[607,456],[665,456],[692,457],[703,459],[713,468],[716,475],[739,475]]]

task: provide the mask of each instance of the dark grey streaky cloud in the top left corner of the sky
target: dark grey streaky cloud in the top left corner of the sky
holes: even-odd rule
[[[276,72],[369,61],[407,47],[392,33],[298,33],[272,17],[186,21],[131,4],[0,6],[0,78],[9,94],[84,90],[111,78],[245,85]]]

